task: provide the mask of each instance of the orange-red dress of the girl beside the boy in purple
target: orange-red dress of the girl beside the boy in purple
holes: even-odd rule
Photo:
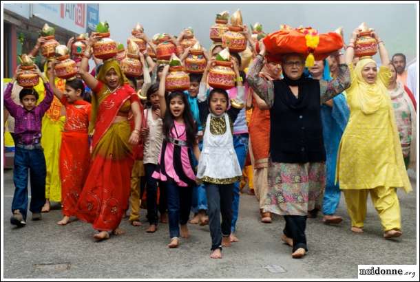
[[[72,104],[63,97],[67,119],[61,133],[60,175],[61,205],[63,215],[76,215],[78,197],[89,172],[89,138],[87,129],[90,120],[90,103],[78,100]],[[76,107],[79,106],[79,107]]]

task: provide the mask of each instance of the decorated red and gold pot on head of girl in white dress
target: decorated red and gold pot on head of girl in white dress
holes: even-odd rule
[[[216,65],[209,70],[207,83],[213,88],[231,89],[235,87],[235,72],[231,62],[216,61]]]

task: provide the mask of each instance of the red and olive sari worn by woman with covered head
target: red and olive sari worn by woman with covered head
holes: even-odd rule
[[[103,65],[104,72],[106,67]],[[117,70],[117,66],[114,68]],[[123,75],[120,77],[124,78]],[[131,129],[127,120],[113,121],[118,112],[128,114],[131,102],[138,102],[138,97],[132,87],[122,85],[109,93],[99,80],[98,86],[93,89],[97,109],[92,109],[92,113],[96,113],[92,114],[92,120],[95,120],[92,161],[76,215],[100,231],[116,229],[128,208],[134,164],[132,146],[128,143]]]

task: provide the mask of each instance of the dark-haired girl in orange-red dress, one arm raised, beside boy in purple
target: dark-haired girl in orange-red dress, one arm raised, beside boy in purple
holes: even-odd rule
[[[52,69],[54,69],[54,62]],[[81,195],[89,171],[90,152],[87,131],[91,106],[89,102],[83,100],[85,87],[81,79],[66,80],[65,91],[61,91],[54,83],[54,72],[50,72],[49,75],[50,86],[55,96],[64,105],[66,112],[61,133],[59,162],[63,219],[57,222],[63,226],[70,222],[70,217],[76,215],[78,197]]]

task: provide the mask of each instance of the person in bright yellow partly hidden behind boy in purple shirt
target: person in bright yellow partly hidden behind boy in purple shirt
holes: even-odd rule
[[[48,72],[53,72],[52,61],[44,64],[44,76],[48,78]],[[61,91],[64,91],[65,80],[61,78],[55,79],[55,85]],[[39,83],[34,87],[39,93],[41,102],[45,96],[43,83]],[[41,128],[41,145],[44,149],[45,163],[47,164],[47,177],[45,179],[45,205],[42,208],[43,213],[50,211],[51,202],[61,202],[61,179],[59,171],[59,158],[61,147],[61,131],[63,131],[65,122],[65,108],[61,105],[58,98],[54,96],[50,109],[45,113],[42,119]]]

